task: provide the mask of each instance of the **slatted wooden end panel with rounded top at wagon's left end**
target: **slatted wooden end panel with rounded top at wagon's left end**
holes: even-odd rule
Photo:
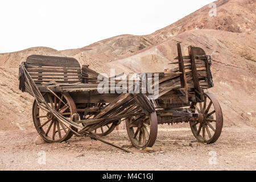
[[[31,55],[27,57],[26,69],[36,84],[82,81],[80,64],[72,57]]]

